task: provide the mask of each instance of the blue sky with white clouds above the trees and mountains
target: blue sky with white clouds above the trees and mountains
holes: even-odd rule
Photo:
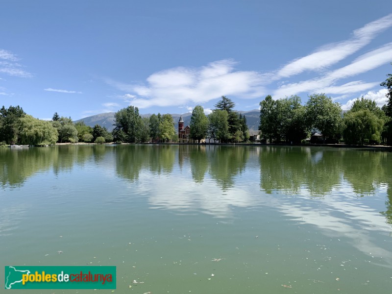
[[[313,93],[382,106],[391,62],[390,0],[0,4],[0,105],[40,119],[208,113],[222,95],[245,111]]]

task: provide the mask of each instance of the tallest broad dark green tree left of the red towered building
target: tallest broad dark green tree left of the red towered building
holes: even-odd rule
[[[114,115],[115,128],[113,130],[114,140],[127,143],[140,141],[139,130],[142,118],[137,107],[128,106],[120,109]]]

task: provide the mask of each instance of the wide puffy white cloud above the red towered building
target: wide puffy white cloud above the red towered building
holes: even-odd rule
[[[221,95],[256,98],[264,94],[262,75],[256,72],[235,71],[231,59],[212,62],[200,68],[177,67],[151,74],[146,85],[126,85],[106,79],[110,85],[132,98],[139,108],[172,106],[192,102],[202,104]],[[131,90],[131,91],[130,91]]]

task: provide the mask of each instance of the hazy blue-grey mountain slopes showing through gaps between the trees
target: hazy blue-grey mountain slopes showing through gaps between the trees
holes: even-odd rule
[[[236,110],[237,111],[237,110]],[[246,117],[246,123],[250,130],[257,130],[259,128],[260,123],[260,111],[259,110],[251,110],[251,111],[237,111]],[[114,112],[101,113],[93,116],[89,116],[87,118],[83,118],[74,123],[83,121],[85,124],[94,127],[96,124],[100,126],[106,127],[109,131],[114,129]],[[142,114],[142,117],[150,117],[151,114]],[[172,117],[175,123],[175,127],[178,127],[178,121],[180,120],[180,114],[172,113]],[[192,113],[187,112],[182,115],[182,119],[184,120],[184,125],[189,125],[191,123]]]

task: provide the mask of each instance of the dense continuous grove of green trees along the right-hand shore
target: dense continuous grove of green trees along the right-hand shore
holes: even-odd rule
[[[301,105],[298,96],[260,102],[262,137],[276,143],[300,143],[315,132],[321,132],[323,143],[343,141],[348,145],[392,145],[392,74],[380,85],[386,87],[382,108],[364,97],[357,98],[345,113],[341,105],[324,94],[309,96]]]

